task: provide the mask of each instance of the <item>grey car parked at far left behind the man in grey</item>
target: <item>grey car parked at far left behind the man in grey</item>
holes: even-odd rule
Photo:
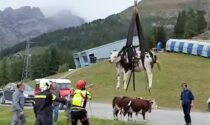
[[[34,90],[27,84],[24,84],[25,103],[32,103],[34,99]],[[15,92],[16,83],[8,83],[0,92],[0,103],[4,104],[6,101],[12,101],[12,94]]]

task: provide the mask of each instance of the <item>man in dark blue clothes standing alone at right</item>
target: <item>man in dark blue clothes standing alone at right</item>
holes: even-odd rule
[[[186,125],[191,125],[190,110],[194,104],[194,96],[192,92],[187,88],[187,83],[183,83],[182,88],[183,90],[181,92],[180,105],[183,108]]]

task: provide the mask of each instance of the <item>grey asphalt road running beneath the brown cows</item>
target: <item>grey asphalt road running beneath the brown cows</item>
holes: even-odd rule
[[[111,104],[90,103],[87,105],[89,117],[97,117],[103,119],[113,119]],[[191,112],[193,125],[210,125],[210,112]],[[121,120],[126,118],[121,117]],[[141,115],[137,117],[133,115],[134,122],[143,122]],[[146,123],[149,125],[185,125],[182,110],[152,110],[146,115]]]

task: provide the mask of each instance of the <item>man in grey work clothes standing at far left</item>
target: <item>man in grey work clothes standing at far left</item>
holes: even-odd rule
[[[12,95],[12,125],[24,125],[25,116],[24,116],[24,85],[22,83],[17,84],[17,89]]]

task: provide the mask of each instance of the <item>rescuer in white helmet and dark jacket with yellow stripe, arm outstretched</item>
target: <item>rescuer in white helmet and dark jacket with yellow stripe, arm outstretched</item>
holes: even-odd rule
[[[34,111],[36,116],[36,125],[52,125],[53,124],[53,107],[54,101],[66,103],[67,100],[56,97],[50,91],[51,83],[41,83],[41,92],[35,96]]]

